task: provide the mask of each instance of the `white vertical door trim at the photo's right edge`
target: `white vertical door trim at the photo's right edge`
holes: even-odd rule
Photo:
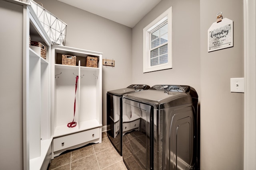
[[[256,169],[255,11],[255,0],[244,0],[244,170]]]

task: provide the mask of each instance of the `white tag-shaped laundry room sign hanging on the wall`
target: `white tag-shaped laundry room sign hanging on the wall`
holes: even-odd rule
[[[233,21],[224,18],[208,29],[208,52],[228,47],[233,47]]]

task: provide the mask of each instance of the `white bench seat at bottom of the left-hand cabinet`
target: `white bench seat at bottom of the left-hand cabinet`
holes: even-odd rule
[[[41,141],[41,155],[38,158],[30,159],[30,169],[31,170],[40,170],[44,158],[46,157],[47,151],[52,143],[52,138]]]

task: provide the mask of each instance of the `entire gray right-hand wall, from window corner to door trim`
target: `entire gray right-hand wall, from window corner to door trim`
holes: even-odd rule
[[[142,29],[170,6],[173,68],[143,74]],[[208,53],[207,31],[220,11],[234,21],[234,47]],[[243,60],[243,0],[162,0],[132,29],[133,83],[188,84],[199,94],[201,170],[243,169],[244,94],[230,92]]]

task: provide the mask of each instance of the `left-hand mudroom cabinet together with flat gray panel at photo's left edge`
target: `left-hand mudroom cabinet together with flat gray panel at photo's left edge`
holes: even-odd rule
[[[1,168],[45,169],[52,152],[51,41],[29,4],[0,1],[0,14],[4,16],[0,36],[0,55],[1,60],[4,59],[4,62],[0,62],[0,113],[1,120],[7,123],[3,125],[6,135],[2,136],[1,132]],[[40,47],[30,47],[30,37],[31,41],[40,42],[46,47],[46,59],[41,57]],[[2,113],[5,117],[2,117]]]

